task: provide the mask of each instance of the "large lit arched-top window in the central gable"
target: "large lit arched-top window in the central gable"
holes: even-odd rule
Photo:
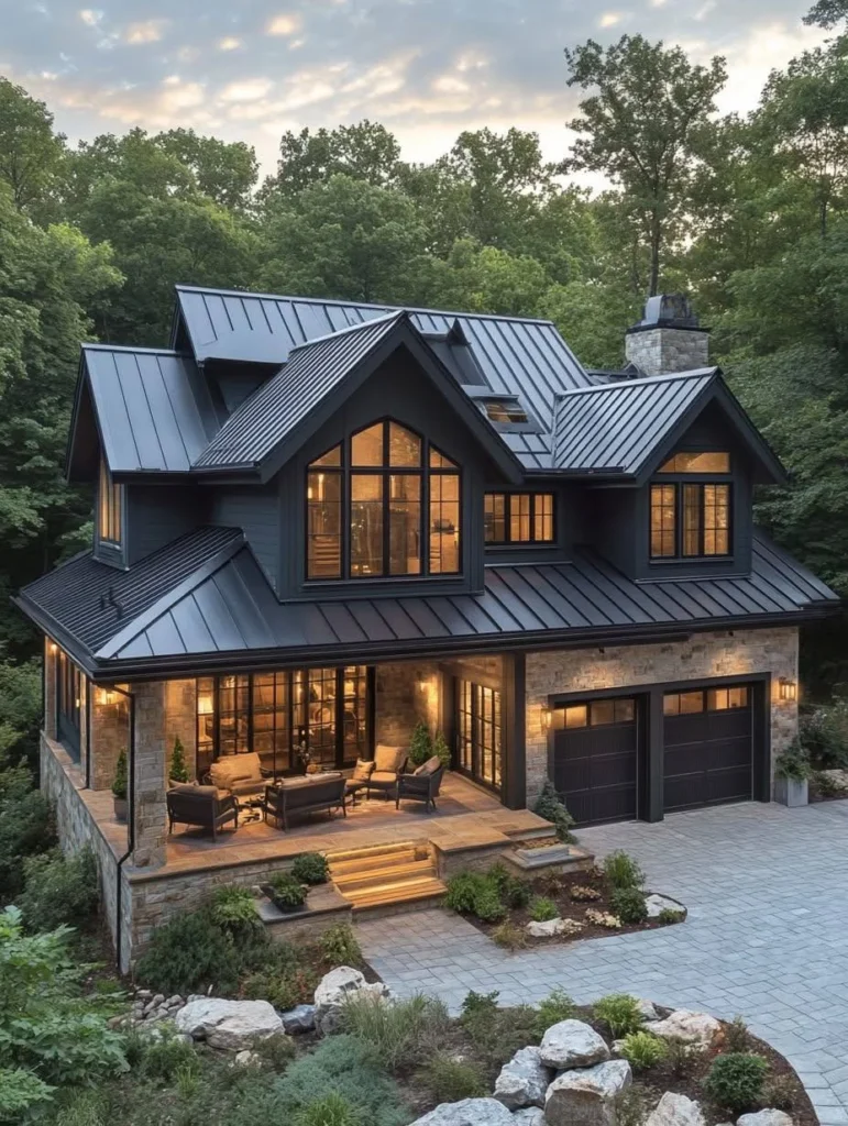
[[[386,420],[306,471],[306,578],[458,574],[459,467]]]

